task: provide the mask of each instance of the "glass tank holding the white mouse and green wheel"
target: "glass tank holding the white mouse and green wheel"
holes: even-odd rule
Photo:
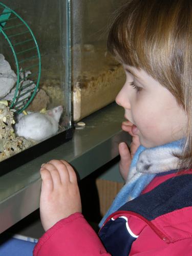
[[[0,26],[0,161],[13,168],[72,138],[70,3],[0,1]]]

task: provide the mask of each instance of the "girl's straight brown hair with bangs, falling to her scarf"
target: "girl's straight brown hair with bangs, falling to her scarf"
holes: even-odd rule
[[[175,96],[188,122],[180,166],[192,167],[192,1],[127,1],[110,27],[108,49]]]

